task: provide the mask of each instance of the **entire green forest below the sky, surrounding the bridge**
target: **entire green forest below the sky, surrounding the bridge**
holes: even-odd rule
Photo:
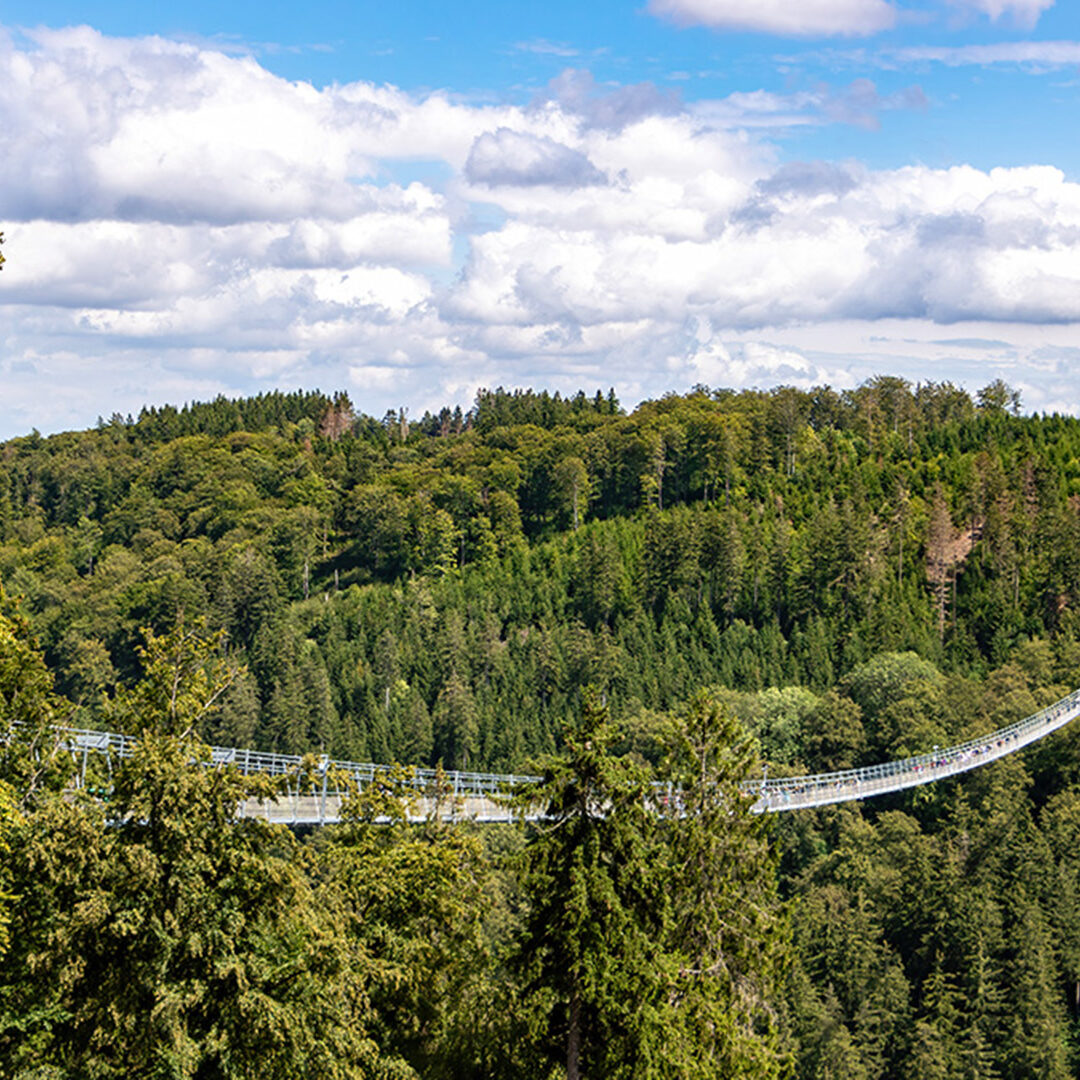
[[[1078,516],[1080,421],[1000,381],[0,445],[0,1072],[1075,1076],[1076,732],[814,811],[738,784],[1075,689]],[[55,724],[141,750],[73,792]],[[549,824],[390,785],[294,836],[207,743],[535,771]]]

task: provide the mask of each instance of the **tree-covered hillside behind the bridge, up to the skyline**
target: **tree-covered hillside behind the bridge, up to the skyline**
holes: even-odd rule
[[[247,667],[208,737],[514,768],[590,684],[623,717],[881,651],[981,675],[1039,638],[1068,666],[1078,495],[1080,423],[1000,382],[631,415],[496,390],[417,421],[272,393],[4,444],[0,580],[87,723],[183,609]]]

